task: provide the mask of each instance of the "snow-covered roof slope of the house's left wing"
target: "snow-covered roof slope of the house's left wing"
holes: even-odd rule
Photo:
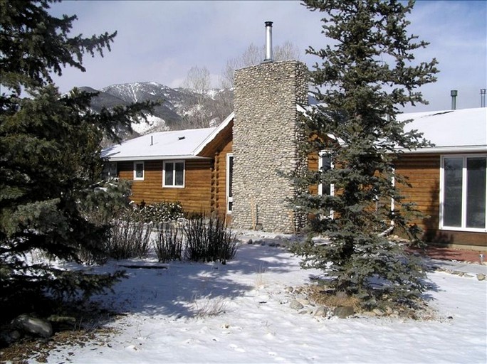
[[[143,135],[103,149],[109,161],[199,158],[194,153],[217,128],[176,130]]]

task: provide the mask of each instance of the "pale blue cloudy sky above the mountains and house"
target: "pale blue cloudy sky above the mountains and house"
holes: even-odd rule
[[[212,87],[219,87],[228,60],[238,58],[251,43],[265,44],[265,21],[273,21],[273,44],[290,41],[310,68],[320,59],[305,50],[327,44],[321,33],[323,14],[300,1],[80,0],[52,4],[50,12],[78,16],[72,36],[117,31],[104,58],[85,56],[85,73],[66,69],[54,77],[61,92],[145,81],[181,87],[193,66],[206,67]],[[419,89],[429,105],[404,111],[450,109],[450,90],[458,91],[458,109],[480,107],[480,90],[487,88],[487,1],[420,0],[408,20],[409,33],[430,43],[414,53],[416,61],[436,58],[440,72],[435,83]]]

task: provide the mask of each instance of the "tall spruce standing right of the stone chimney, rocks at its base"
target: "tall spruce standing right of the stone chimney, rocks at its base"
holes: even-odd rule
[[[425,288],[421,264],[386,232],[403,230],[419,242],[412,223],[417,210],[397,188],[407,179],[394,173],[394,160],[397,147],[414,149],[427,141],[417,131],[404,132],[396,114],[399,106],[427,103],[416,89],[436,80],[436,60],[413,64],[413,51],[427,45],[407,33],[413,1],[304,4],[326,14],[323,34],[331,45],[307,50],[321,61],[311,71],[319,106],[303,118],[310,137],[303,155],[323,151],[330,163],[295,175],[302,192],[294,205],[315,216],[311,230],[327,235],[330,243],[309,240],[295,252],[304,267],[327,272],[335,292],[357,296],[365,306],[386,300],[412,304]],[[335,193],[307,192],[318,183],[333,186]]]

